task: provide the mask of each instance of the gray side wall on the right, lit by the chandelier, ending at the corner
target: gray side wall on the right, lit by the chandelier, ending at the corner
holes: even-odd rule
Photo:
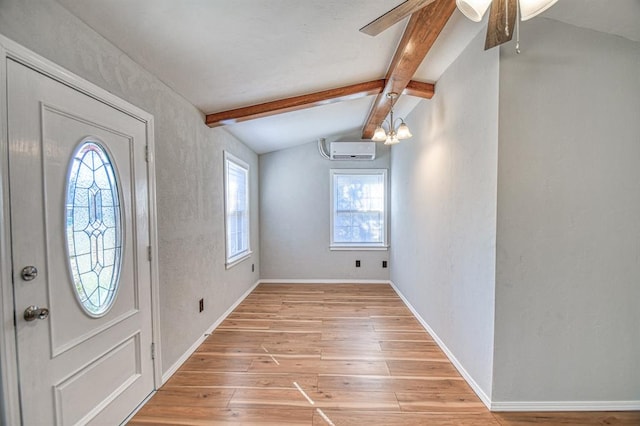
[[[391,154],[391,279],[491,396],[498,52],[478,35]]]

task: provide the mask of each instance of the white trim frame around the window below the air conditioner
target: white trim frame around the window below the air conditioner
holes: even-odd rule
[[[334,237],[335,221],[335,188],[334,180],[336,175],[382,175],[384,183],[384,229],[383,241],[381,243],[336,243]],[[330,169],[329,173],[329,250],[388,250],[389,248],[389,172],[387,169]]]

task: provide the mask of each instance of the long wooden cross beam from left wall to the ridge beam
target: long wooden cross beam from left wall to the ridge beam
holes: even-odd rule
[[[239,123],[283,112],[296,111],[318,105],[327,105],[335,102],[357,99],[363,96],[377,95],[382,92],[384,87],[384,80],[352,84],[350,86],[323,90],[322,92],[310,93],[308,95],[294,96],[292,98],[207,114],[205,123],[209,127]]]

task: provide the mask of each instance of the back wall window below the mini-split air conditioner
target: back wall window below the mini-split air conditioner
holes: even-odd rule
[[[387,247],[387,171],[331,170],[331,248]]]

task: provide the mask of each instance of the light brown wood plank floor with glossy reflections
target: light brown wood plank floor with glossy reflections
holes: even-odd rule
[[[261,284],[129,425],[640,425],[491,413],[389,285]]]

